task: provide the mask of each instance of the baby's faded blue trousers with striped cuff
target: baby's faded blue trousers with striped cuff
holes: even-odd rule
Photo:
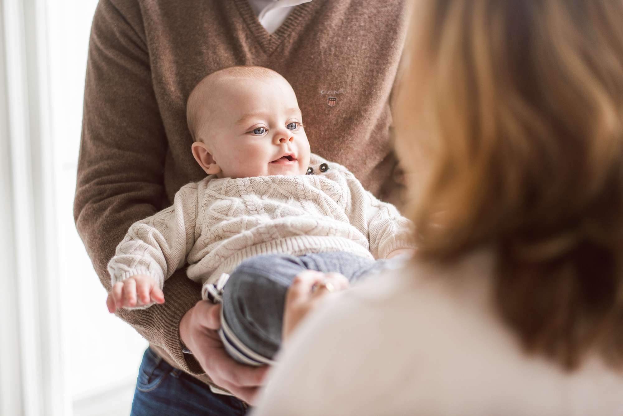
[[[252,257],[235,268],[223,289],[219,336],[236,361],[250,366],[274,364],[281,344],[285,294],[303,270],[338,272],[351,282],[387,266],[345,252]]]

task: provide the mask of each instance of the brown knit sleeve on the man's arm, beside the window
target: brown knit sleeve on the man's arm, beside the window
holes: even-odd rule
[[[107,290],[115,247],[131,224],[158,212],[164,199],[167,149],[140,10],[134,2],[123,6],[121,12],[111,0],[100,0],[93,18],[74,201],[78,234]],[[164,296],[164,305],[119,310],[118,316],[181,368],[201,374],[179,341],[179,321],[201,298],[200,288],[182,268],[167,281]]]

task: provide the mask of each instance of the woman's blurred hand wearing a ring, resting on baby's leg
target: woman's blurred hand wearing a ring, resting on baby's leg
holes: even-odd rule
[[[290,338],[300,321],[318,306],[321,299],[333,291],[347,287],[348,280],[340,273],[321,273],[314,270],[299,273],[285,295],[282,343]]]

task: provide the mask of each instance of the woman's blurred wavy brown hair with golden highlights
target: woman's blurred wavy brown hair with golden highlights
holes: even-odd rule
[[[422,0],[397,151],[419,256],[497,253],[526,351],[623,363],[623,1]]]

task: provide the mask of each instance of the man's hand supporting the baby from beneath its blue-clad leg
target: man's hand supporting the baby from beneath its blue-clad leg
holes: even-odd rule
[[[234,361],[219,338],[219,328],[221,305],[201,300],[184,314],[179,336],[216,385],[253,405],[269,367],[245,366]]]

